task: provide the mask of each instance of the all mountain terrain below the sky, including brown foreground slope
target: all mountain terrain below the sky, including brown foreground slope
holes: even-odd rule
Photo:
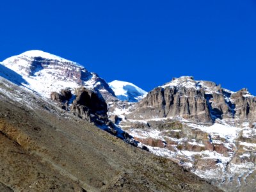
[[[0,189],[256,189],[256,98],[246,89],[180,77],[147,94],[42,51],[4,60],[0,76]]]

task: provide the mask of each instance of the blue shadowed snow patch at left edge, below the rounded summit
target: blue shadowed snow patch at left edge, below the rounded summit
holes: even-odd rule
[[[17,72],[13,71],[10,68],[5,67],[0,63],[0,77],[3,77],[4,79],[7,79],[8,81],[11,81],[14,84],[20,85],[20,84],[28,84],[28,82],[23,79],[20,74],[17,74]]]

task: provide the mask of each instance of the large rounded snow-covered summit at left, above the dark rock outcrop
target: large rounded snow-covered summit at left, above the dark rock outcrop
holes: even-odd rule
[[[97,74],[78,63],[44,51],[26,51],[4,60],[2,65],[24,79],[20,84],[46,98],[50,97],[51,92],[60,92],[63,88],[85,86],[99,91],[104,99],[115,99],[115,93],[108,83]],[[21,79],[13,81],[18,80]]]

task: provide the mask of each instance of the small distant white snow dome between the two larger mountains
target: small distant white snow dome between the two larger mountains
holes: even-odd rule
[[[120,100],[127,100],[128,102],[138,102],[146,97],[147,92],[136,86],[135,84],[125,81],[112,81],[109,86],[115,92],[115,95]]]

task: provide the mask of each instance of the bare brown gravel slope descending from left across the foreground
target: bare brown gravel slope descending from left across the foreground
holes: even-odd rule
[[[218,191],[3,77],[0,161],[1,191]]]

